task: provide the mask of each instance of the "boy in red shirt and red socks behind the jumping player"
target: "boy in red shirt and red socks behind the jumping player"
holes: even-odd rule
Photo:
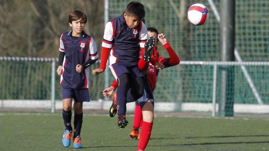
[[[168,51],[170,58],[162,58],[159,56],[159,54],[157,52],[157,43],[156,43],[154,50],[153,50],[153,55],[160,63],[164,64],[164,67],[171,67],[171,66],[175,66],[175,65],[179,64],[179,58],[176,55],[176,53],[174,52],[174,50],[171,48],[171,46],[169,45],[169,43],[166,39],[166,36],[164,34],[158,34],[157,29],[152,28],[152,27],[148,28],[148,34],[149,34],[149,36],[154,37],[156,39],[156,41],[158,38],[158,40],[160,40],[160,42],[163,44],[163,46]],[[144,64],[143,66],[141,66],[141,64],[138,64],[138,66],[139,66],[139,68],[145,68],[147,66],[147,64]],[[131,137],[133,137],[133,138],[138,137],[138,134],[139,134],[138,129],[140,127],[140,122],[142,120],[143,124],[142,124],[142,129],[141,129],[141,137],[140,137],[141,139],[139,140],[137,150],[139,150],[139,149],[144,150],[146,148],[146,145],[147,145],[149,138],[150,138],[150,135],[151,135],[151,129],[153,126],[153,106],[150,106],[149,104],[146,105],[146,103],[152,102],[152,105],[153,105],[154,99],[153,99],[153,96],[151,96],[149,89],[151,92],[153,92],[155,87],[156,87],[157,68],[152,66],[152,64],[149,62],[148,69],[149,70],[147,72],[147,76],[146,76],[147,78],[145,81],[145,83],[146,83],[145,84],[145,92],[144,92],[144,95],[142,96],[142,98],[138,99],[139,103],[138,103],[138,105],[136,105],[136,109],[135,109],[133,131],[130,133]],[[113,82],[111,87],[106,88],[103,91],[103,94],[105,97],[110,97],[111,94],[115,91],[115,89],[117,88],[117,84],[115,82],[116,81]],[[149,84],[147,84],[147,83],[149,83]],[[147,85],[150,87],[149,89],[147,89]],[[113,95],[113,101],[115,100],[114,95]]]

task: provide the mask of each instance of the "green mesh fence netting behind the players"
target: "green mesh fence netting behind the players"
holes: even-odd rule
[[[120,16],[131,1],[109,0],[109,19]],[[140,0],[146,9],[146,26],[155,27],[167,35],[181,61],[218,61],[219,24],[206,0]],[[202,3],[209,8],[210,18],[202,26],[191,25],[186,13],[190,5]],[[215,1],[219,8],[219,0]],[[90,15],[90,14],[89,14]],[[269,1],[236,1],[235,45],[244,61],[268,61]],[[103,30],[94,33],[103,33]],[[96,39],[96,38],[95,38]],[[57,39],[58,41],[58,39]],[[97,40],[98,41],[98,40]],[[58,46],[57,46],[58,47]],[[160,55],[168,53],[158,46]],[[57,48],[55,49],[57,51]],[[97,68],[94,64],[89,70]],[[155,99],[163,102],[211,102],[213,66],[178,65],[160,71]],[[218,67],[218,83],[220,80]],[[268,66],[246,67],[264,103],[269,103]],[[234,66],[234,101],[256,104],[256,98],[240,66]],[[0,99],[50,99],[51,64],[39,62],[0,62]],[[113,77],[110,74],[109,82]],[[61,99],[59,76],[56,76],[56,99]],[[103,99],[104,74],[90,76],[90,98]],[[217,102],[219,101],[217,85]]]

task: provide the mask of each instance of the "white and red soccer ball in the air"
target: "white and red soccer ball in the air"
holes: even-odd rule
[[[188,9],[187,18],[193,25],[200,26],[209,18],[208,8],[203,4],[193,4]]]

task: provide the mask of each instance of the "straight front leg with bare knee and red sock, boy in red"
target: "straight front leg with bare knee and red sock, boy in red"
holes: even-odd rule
[[[140,132],[140,139],[138,142],[138,150],[144,150],[149,142],[149,138],[151,135],[151,130],[153,127],[153,114],[154,106],[153,103],[150,101],[147,101],[143,108],[142,108],[142,115],[143,115],[143,125]]]

